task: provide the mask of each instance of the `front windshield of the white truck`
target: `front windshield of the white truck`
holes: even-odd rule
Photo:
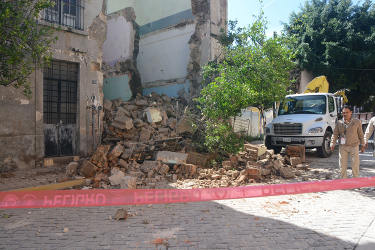
[[[286,97],[281,101],[278,108],[278,115],[294,113],[315,113],[325,114],[326,97],[325,95],[301,95]]]

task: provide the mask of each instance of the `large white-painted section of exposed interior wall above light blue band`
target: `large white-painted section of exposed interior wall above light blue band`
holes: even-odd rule
[[[195,24],[145,37],[139,41],[137,68],[142,84],[186,77]]]

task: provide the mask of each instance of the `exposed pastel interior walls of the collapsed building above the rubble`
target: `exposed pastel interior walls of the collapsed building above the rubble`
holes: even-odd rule
[[[201,66],[217,58],[227,0],[108,0],[103,93],[197,97]]]

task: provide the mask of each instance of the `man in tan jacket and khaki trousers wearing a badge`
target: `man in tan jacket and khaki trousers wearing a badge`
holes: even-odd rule
[[[364,138],[362,131],[362,123],[360,120],[352,117],[353,109],[351,106],[343,106],[342,120],[338,120],[334,128],[332,137],[330,139],[330,150],[333,151],[334,145],[338,136],[338,164],[340,165],[341,178],[346,179],[347,159],[350,157],[350,166],[352,169],[352,177],[359,176],[359,151],[358,145],[360,144],[360,151],[364,151]]]

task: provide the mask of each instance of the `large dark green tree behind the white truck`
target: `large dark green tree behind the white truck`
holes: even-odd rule
[[[329,91],[349,88],[351,105],[375,92],[375,5],[365,0],[306,0],[283,23],[302,69],[325,75]]]

